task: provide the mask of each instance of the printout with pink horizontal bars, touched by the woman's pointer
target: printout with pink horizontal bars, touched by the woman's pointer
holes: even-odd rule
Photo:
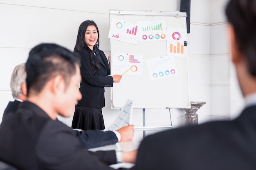
[[[140,54],[129,54],[114,52],[112,60],[111,74],[142,74],[142,58]]]

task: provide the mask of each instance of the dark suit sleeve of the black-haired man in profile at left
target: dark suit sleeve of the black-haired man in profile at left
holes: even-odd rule
[[[114,150],[89,152],[76,139],[71,128],[61,122],[48,121],[35,146],[42,169],[55,170],[113,170]]]

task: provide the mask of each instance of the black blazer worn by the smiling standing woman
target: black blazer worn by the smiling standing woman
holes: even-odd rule
[[[94,46],[94,48],[97,48]],[[113,86],[113,78],[110,75],[108,60],[103,51],[99,50],[99,55],[103,61],[99,63],[101,69],[94,71],[89,58],[89,52],[84,48],[78,51],[81,57],[81,76],[80,92],[82,99],[77,105],[91,108],[102,108],[105,106],[104,87]]]

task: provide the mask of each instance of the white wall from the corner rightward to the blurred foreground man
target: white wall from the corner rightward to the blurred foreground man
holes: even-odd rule
[[[230,61],[225,7],[228,0],[211,0],[211,120],[234,119],[243,109],[236,72]]]

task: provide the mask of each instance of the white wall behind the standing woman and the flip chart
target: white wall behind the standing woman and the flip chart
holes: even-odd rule
[[[229,62],[227,0],[191,0],[191,27],[188,34],[189,83],[191,100],[205,101],[198,110],[199,123],[238,116],[243,107],[236,74]],[[152,3],[150,3],[152,2]],[[180,0],[0,0],[0,117],[12,100],[9,82],[13,68],[25,62],[29,50],[41,42],[57,43],[72,50],[78,27],[94,20],[100,32],[100,49],[108,56],[109,10],[179,11]],[[103,116],[106,126],[118,109],[110,108],[110,87],[106,88]],[[221,100],[220,100],[221,99]],[[183,126],[184,111],[173,109],[175,127]],[[70,118],[59,118],[71,126]],[[142,126],[142,110],[135,109],[132,123]],[[146,125],[169,125],[168,109],[146,109]],[[154,132],[148,132],[154,133]],[[142,132],[135,132],[141,137]]]

